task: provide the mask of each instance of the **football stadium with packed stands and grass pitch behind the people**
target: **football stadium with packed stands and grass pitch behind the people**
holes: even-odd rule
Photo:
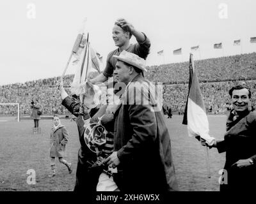
[[[241,66],[243,61],[243,66]],[[210,134],[223,138],[225,120],[230,108],[228,89],[236,84],[246,84],[252,88],[256,98],[256,53],[220,57],[195,61],[198,69],[200,88],[204,96],[208,113]],[[227,67],[228,64],[228,67]],[[240,66],[239,66],[240,65]],[[186,126],[182,124],[186,97],[188,96],[189,62],[161,64],[152,66],[145,77],[150,81],[163,82],[163,104],[172,107],[173,117],[164,115],[172,141],[173,160],[177,173],[178,186],[181,191],[219,191],[219,179],[225,163],[225,154],[211,150],[209,154],[211,178],[208,178],[205,148],[195,138],[188,137]],[[243,75],[237,75],[237,69]],[[97,75],[97,73],[94,73]],[[69,91],[74,75],[67,75],[63,81]],[[205,79],[206,78],[206,79]],[[58,164],[57,175],[49,179],[49,141],[52,115],[61,115],[61,122],[70,133],[67,146],[68,159],[75,164],[79,138],[76,122],[66,108],[60,106],[60,96],[56,92],[56,78],[34,80],[24,84],[1,86],[1,103],[19,103],[20,122],[17,122],[17,105],[1,106],[1,191],[72,191],[75,183],[74,173],[69,175],[67,169]],[[13,95],[15,98],[13,98]],[[44,104],[41,134],[31,131],[33,122],[30,118],[30,100],[36,97]],[[253,105],[255,106],[255,100]],[[66,118],[66,115],[68,116]],[[28,185],[27,171],[36,172],[36,185]]]

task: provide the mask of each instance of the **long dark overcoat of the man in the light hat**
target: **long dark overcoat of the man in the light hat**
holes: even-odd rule
[[[142,75],[132,82],[149,84]],[[134,88],[143,98],[143,93]],[[120,159],[118,174],[114,177],[116,184],[121,191],[177,190],[170,135],[163,112],[152,111],[150,105],[131,104],[127,102],[131,98],[128,95],[123,94],[122,105],[115,113],[114,150]]]

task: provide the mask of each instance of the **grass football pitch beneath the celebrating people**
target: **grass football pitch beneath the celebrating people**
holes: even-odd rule
[[[166,117],[166,115],[165,115]],[[210,134],[223,138],[225,115],[209,116]],[[219,191],[219,171],[225,163],[225,153],[209,150],[211,178],[207,177],[206,150],[195,138],[189,138],[182,116],[166,118],[172,140],[172,154],[179,191]],[[80,147],[76,122],[61,119],[70,134],[67,161],[73,172],[56,160],[56,177],[51,173],[49,142],[52,120],[40,120],[41,134],[32,133],[33,120],[15,121],[0,117],[0,191],[73,191],[76,181],[77,152]],[[28,170],[35,170],[36,184],[28,184]],[[154,175],[152,175],[154,176]]]

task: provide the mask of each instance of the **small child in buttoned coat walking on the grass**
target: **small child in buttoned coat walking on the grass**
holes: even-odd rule
[[[58,115],[53,116],[53,127],[51,132],[51,168],[52,174],[49,177],[54,177],[55,172],[55,157],[59,157],[60,163],[63,163],[68,168],[68,173],[72,173],[71,163],[67,163],[63,157],[66,157],[66,145],[68,143],[68,132],[65,126],[60,122]]]

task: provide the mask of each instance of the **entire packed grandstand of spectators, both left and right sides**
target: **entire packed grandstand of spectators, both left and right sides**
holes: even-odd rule
[[[218,57],[195,61],[195,66],[208,113],[223,113],[230,108],[228,89],[236,84],[245,84],[252,90],[252,105],[256,98],[256,53]],[[63,82],[67,92],[74,75],[67,75]],[[163,83],[163,105],[182,114],[188,96],[189,62],[150,66],[145,78],[150,82]],[[20,114],[28,115],[32,98],[39,99],[43,113],[67,114],[61,106],[60,97],[54,96],[56,77],[33,80],[23,84],[0,87],[0,103],[20,103]],[[0,106],[0,114],[14,114],[17,108]]]

